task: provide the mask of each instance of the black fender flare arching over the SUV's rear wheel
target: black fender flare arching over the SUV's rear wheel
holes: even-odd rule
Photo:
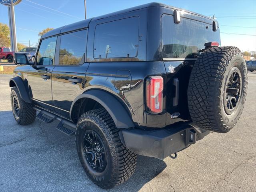
[[[89,90],[78,96],[72,102],[70,110],[70,119],[74,104],[81,98],[90,98],[100,103],[108,111],[117,128],[134,127],[132,117],[125,109],[125,107],[118,101],[118,99],[115,96],[103,90]]]

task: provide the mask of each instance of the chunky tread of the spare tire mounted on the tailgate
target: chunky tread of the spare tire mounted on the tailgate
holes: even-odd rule
[[[192,120],[200,128],[214,132],[228,132],[220,114],[221,88],[230,60],[241,51],[232,46],[204,50],[196,60],[188,86],[188,108]]]

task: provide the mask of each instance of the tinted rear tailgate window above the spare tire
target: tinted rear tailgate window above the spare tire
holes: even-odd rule
[[[212,41],[220,44],[219,30],[214,32],[212,25],[186,18],[175,24],[173,16],[162,16],[163,58],[194,58]]]

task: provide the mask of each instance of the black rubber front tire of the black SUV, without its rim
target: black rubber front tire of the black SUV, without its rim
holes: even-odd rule
[[[19,115],[14,110],[13,98],[16,98],[19,106]],[[27,103],[20,97],[19,90],[16,86],[12,87],[11,90],[11,105],[12,113],[16,122],[20,125],[28,125],[34,122],[36,119],[36,110],[33,109],[32,103]]]

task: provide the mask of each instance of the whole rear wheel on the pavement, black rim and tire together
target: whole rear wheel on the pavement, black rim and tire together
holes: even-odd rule
[[[104,189],[119,185],[135,171],[137,155],[126,148],[105,109],[88,111],[76,127],[76,149],[90,179]]]

